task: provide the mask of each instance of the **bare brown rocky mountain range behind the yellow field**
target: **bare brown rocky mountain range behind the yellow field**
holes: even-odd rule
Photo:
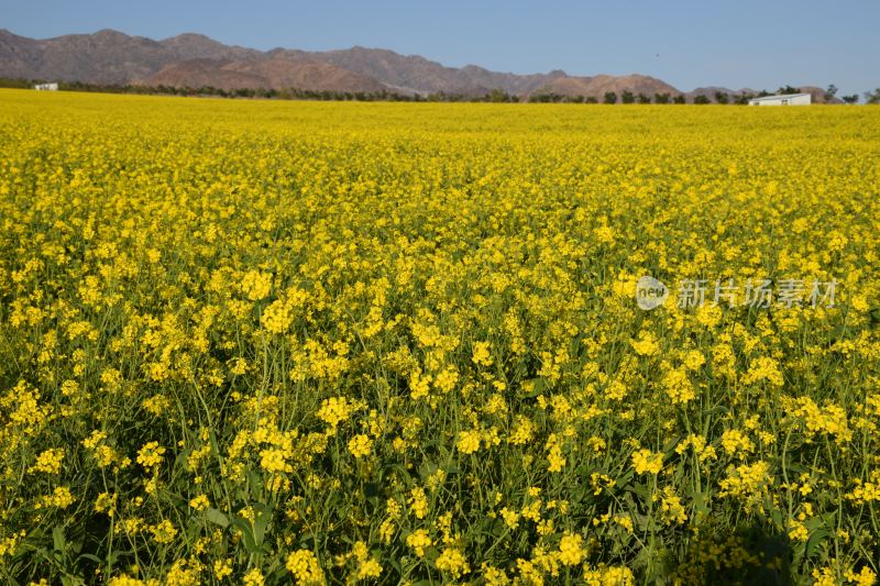
[[[714,96],[752,92],[727,88],[697,88],[683,92],[646,75],[571,76],[562,70],[518,75],[491,71],[476,65],[447,67],[417,55],[354,46],[308,52],[288,48],[257,51],[226,45],[205,35],[186,33],[161,41],[113,30],[29,38],[0,30],[0,77],[81,81],[99,85],[142,85],[219,89],[292,89],[331,91],[392,91],[404,95],[437,92],[482,96],[492,90],[527,97],[559,93],[602,99],[605,92],[685,93]],[[817,87],[814,101],[824,101]]]

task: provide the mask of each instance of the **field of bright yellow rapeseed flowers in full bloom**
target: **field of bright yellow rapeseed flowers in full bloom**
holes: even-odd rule
[[[873,584],[879,162],[871,108],[2,91],[0,579]]]

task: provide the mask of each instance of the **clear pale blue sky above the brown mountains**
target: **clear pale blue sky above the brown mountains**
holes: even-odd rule
[[[117,29],[322,51],[352,45],[519,74],[639,73],[681,90],[880,87],[880,0],[0,0],[0,27]]]

